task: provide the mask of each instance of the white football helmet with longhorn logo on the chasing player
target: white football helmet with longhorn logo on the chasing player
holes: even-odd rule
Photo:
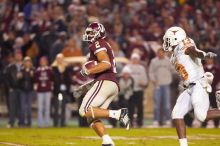
[[[163,49],[164,51],[172,51],[172,47],[176,46],[179,42],[186,38],[186,32],[177,26],[167,29],[163,36]]]

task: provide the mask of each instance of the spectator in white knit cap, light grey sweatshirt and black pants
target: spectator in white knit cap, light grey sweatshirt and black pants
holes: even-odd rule
[[[140,55],[133,53],[131,55],[131,63],[126,65],[123,70],[130,70],[131,77],[134,80],[134,92],[131,98],[129,99],[129,117],[131,120],[131,126],[134,126],[134,114],[135,109],[137,108],[137,126],[143,126],[143,98],[144,98],[144,89],[147,86],[148,79],[147,73],[140,64]]]

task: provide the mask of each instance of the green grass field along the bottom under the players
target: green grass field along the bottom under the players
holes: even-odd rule
[[[108,129],[116,146],[178,146],[175,129]],[[220,129],[187,129],[189,146],[220,146]],[[89,128],[0,129],[0,145],[100,146]]]

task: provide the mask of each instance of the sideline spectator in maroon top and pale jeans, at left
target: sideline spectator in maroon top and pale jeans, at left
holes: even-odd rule
[[[48,127],[50,123],[53,75],[45,56],[40,58],[40,66],[35,71],[34,81],[34,88],[37,92],[38,127]]]

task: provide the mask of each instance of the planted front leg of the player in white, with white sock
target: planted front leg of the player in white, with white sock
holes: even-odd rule
[[[176,131],[178,134],[180,146],[188,146],[186,139],[186,126],[184,116],[192,109],[191,98],[188,90],[185,90],[177,99],[176,105],[172,111],[172,119],[174,120]]]

